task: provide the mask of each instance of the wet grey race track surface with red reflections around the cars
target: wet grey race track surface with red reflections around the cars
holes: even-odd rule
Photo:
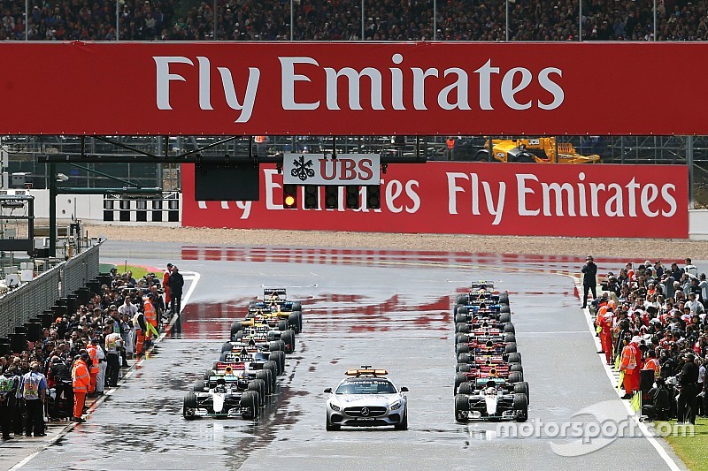
[[[247,256],[243,250],[253,255],[241,248],[104,245],[106,262],[173,262],[201,274],[182,313],[183,333],[161,342],[88,422],[23,469],[597,470],[619,460],[633,463],[624,469],[667,467],[638,429],[581,444],[553,428],[514,438],[500,436],[497,423],[454,421],[450,305],[473,279],[494,279],[497,289],[510,292],[530,384],[528,424],[627,415],[598,360],[573,280],[551,274],[547,262],[413,253],[310,257],[286,249]],[[184,394],[218,359],[231,322],[245,315],[264,285],[287,287],[289,299],[304,303],[303,333],[266,412],[256,422],[184,420]],[[365,364],[388,368],[396,384],[410,389],[408,431],[325,431],[322,391],[346,368]],[[594,415],[582,414],[586,407]]]

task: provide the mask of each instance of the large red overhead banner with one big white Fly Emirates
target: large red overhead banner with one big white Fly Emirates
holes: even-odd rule
[[[701,57],[708,43],[3,42],[0,134],[708,134]]]

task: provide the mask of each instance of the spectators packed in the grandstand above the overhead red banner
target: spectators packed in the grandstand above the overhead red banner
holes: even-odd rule
[[[213,39],[213,2],[175,0],[29,0],[33,41],[200,41]],[[191,6],[190,6],[191,5]],[[283,0],[219,0],[217,39],[287,41],[290,5]],[[294,0],[296,41],[361,40],[359,0]],[[652,41],[651,0],[509,0],[512,41]],[[372,41],[504,41],[503,0],[365,0],[364,39]],[[582,8],[581,8],[582,7]],[[434,24],[434,11],[436,22]],[[658,41],[704,41],[706,2],[657,0]],[[25,2],[3,0],[0,39],[24,40]],[[434,34],[434,27],[436,31]]]

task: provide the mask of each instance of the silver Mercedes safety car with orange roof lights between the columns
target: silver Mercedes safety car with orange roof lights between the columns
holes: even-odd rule
[[[362,366],[349,369],[335,391],[327,388],[327,430],[346,427],[380,427],[393,425],[408,429],[408,388],[396,388],[385,376],[385,369]]]

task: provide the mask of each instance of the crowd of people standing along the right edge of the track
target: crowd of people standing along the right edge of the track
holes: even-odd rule
[[[585,267],[592,263],[588,257]],[[592,280],[584,268],[586,280]],[[620,381],[631,399],[642,391],[648,402],[658,402],[659,418],[675,417],[695,423],[708,415],[708,280],[690,259],[685,264],[627,262],[602,281],[602,295],[590,310],[608,364],[621,370]],[[586,290],[587,291],[587,290]],[[654,380],[640,387],[643,370]],[[657,391],[660,393],[658,395]],[[656,411],[649,409],[650,414]]]

